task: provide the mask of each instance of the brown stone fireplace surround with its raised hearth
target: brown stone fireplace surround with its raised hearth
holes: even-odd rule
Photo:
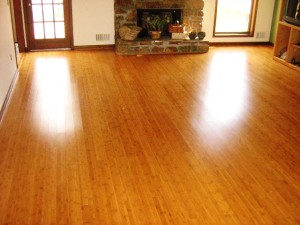
[[[204,53],[208,42],[162,38],[124,41],[118,30],[123,25],[137,25],[137,9],[183,9],[183,23],[188,30],[202,31],[203,0],[115,0],[116,53],[120,55]]]

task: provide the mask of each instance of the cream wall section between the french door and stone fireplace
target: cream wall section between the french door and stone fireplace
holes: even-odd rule
[[[115,43],[114,0],[73,0],[74,46]],[[96,41],[96,34],[109,34],[107,41]]]

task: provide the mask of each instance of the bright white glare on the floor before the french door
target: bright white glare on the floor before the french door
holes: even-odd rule
[[[44,132],[66,133],[74,129],[72,86],[64,58],[39,58],[34,74],[34,102],[39,127]]]

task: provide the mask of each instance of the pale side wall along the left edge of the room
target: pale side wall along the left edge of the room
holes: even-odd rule
[[[0,1],[0,109],[17,72],[10,6]]]

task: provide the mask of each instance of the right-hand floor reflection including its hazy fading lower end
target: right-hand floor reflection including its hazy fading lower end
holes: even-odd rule
[[[206,76],[207,83],[199,89],[201,101],[192,113],[191,123],[202,143],[214,151],[224,150],[224,144],[238,141],[234,133],[240,129],[249,109],[247,55],[215,53]]]

